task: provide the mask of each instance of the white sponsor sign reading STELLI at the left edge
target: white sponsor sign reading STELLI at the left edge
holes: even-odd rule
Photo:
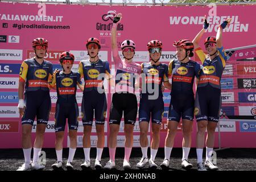
[[[21,61],[22,49],[0,49],[0,60]]]

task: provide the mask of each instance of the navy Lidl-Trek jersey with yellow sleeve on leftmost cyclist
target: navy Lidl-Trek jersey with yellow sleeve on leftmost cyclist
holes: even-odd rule
[[[35,90],[48,91],[52,72],[52,63],[49,61],[44,60],[39,64],[34,58],[24,60],[19,72],[19,81],[26,82],[24,93]]]

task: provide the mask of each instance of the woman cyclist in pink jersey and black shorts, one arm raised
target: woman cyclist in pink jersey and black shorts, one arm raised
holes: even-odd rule
[[[121,44],[123,58],[118,55],[117,47],[117,22],[122,14],[117,14],[113,20],[112,27],[112,54],[115,68],[115,93],[112,97],[110,107],[110,134],[109,155],[110,160],[104,168],[115,167],[115,148],[117,146],[117,135],[122,115],[125,121],[125,159],[123,168],[130,168],[130,154],[133,147],[133,128],[137,119],[138,102],[135,96],[135,85],[137,85],[138,74],[141,73],[141,65],[133,63],[135,43],[133,40],[125,40]],[[136,86],[137,87],[137,86]]]

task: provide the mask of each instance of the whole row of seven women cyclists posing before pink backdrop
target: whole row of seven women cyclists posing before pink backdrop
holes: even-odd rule
[[[125,132],[125,156],[123,168],[131,168],[129,159],[133,147],[133,130],[137,120],[137,97],[135,90],[141,89],[139,102],[139,128],[142,158],[137,163],[138,168],[143,168],[148,162],[150,168],[155,169],[155,156],[160,142],[160,126],[162,123],[164,102],[163,90],[171,90],[171,102],[168,111],[168,132],[164,144],[164,160],[160,164],[162,168],[170,166],[170,155],[174,146],[174,138],[177,126],[182,118],[183,131],[183,157],[181,167],[192,168],[188,162],[191,147],[191,133],[194,115],[197,121],[196,153],[197,169],[205,171],[218,169],[211,160],[213,151],[214,131],[217,126],[219,110],[221,106],[220,80],[226,64],[226,55],[222,47],[222,30],[228,26],[231,19],[226,19],[218,28],[216,37],[209,36],[204,45],[207,51],[200,48],[199,42],[207,30],[209,23],[205,17],[204,28],[191,42],[181,39],[174,42],[177,59],[171,60],[169,65],[160,63],[163,44],[159,40],[151,40],[147,44],[150,61],[141,65],[134,63],[135,43],[133,40],[124,40],[121,43],[122,55],[118,54],[117,24],[121,21],[122,14],[118,13],[113,19],[112,27],[112,55],[114,61],[115,76],[110,75],[109,62],[101,60],[98,53],[101,49],[100,40],[89,38],[86,42],[89,59],[82,60],[79,71],[72,71],[75,56],[71,52],[63,52],[60,55],[60,64],[63,70],[54,71],[52,63],[44,60],[48,48],[48,41],[44,38],[36,38],[32,42],[35,57],[24,60],[20,67],[19,76],[19,113],[22,117],[22,148],[25,163],[19,167],[19,171],[28,169],[43,169],[38,163],[40,151],[43,146],[44,131],[51,110],[51,97],[49,89],[56,89],[57,102],[55,112],[55,149],[57,162],[52,164],[53,169],[63,166],[63,139],[66,119],[68,119],[68,135],[70,140],[67,169],[73,169],[73,157],[77,144],[77,128],[79,121],[79,107],[76,101],[77,86],[82,90],[82,124],[84,136],[82,144],[84,148],[85,162],[82,169],[90,168],[90,133],[92,131],[93,118],[95,118],[97,132],[97,156],[94,163],[96,169],[102,168],[101,155],[104,148],[104,123],[107,111],[106,94],[104,92],[104,80],[108,80],[114,86],[115,93],[112,96],[109,115],[109,158],[104,168],[115,167],[115,149],[117,135],[122,116],[124,117]],[[192,61],[193,51],[200,58],[202,65]],[[102,76],[103,75],[103,76]],[[82,84],[81,78],[84,78]],[[171,79],[171,83],[169,81]],[[196,79],[196,96],[193,92]],[[34,142],[34,155],[31,162],[31,130],[34,119],[37,119],[36,138]],[[148,159],[148,127],[152,122],[152,140],[150,145],[150,158]],[[206,160],[203,163],[203,148],[205,131]]]

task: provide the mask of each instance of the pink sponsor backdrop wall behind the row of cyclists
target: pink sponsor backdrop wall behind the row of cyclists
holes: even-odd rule
[[[225,49],[244,47],[256,44],[255,42],[255,7],[256,6],[217,6],[217,16],[209,19],[209,35],[216,35],[214,28],[220,19],[232,16],[233,22],[228,32],[224,32],[223,44]],[[44,6],[43,6],[44,8]],[[59,67],[59,53],[71,51],[75,54],[77,62],[86,59],[85,42],[89,37],[101,40],[100,57],[112,61],[110,49],[110,31],[112,20],[106,14],[116,11],[123,14],[121,25],[118,27],[118,43],[124,39],[132,39],[137,44],[135,61],[148,61],[146,51],[147,42],[159,39],[163,42],[163,56],[161,61],[168,64],[175,56],[172,43],[179,39],[193,39],[203,26],[203,17],[208,14],[207,6],[82,6],[82,5],[46,5],[42,11],[39,4],[0,3],[0,148],[21,147],[21,124],[16,110],[18,103],[18,76],[22,60],[33,56],[31,42],[34,38],[43,37],[49,41],[49,50],[46,60]],[[46,16],[40,17],[42,13]],[[111,14],[111,12],[109,12]],[[41,19],[40,19],[41,18]],[[112,16],[110,15],[110,18]],[[26,27],[27,26],[27,27]],[[35,27],[38,28],[35,28]],[[39,27],[40,26],[40,27]],[[46,26],[56,26],[50,28]],[[57,27],[59,26],[59,27]],[[62,26],[62,27],[61,27]],[[31,27],[31,28],[30,28]],[[34,28],[32,28],[34,27]],[[203,40],[201,41],[203,46]],[[248,53],[247,53],[248,52]],[[13,53],[10,55],[10,53]],[[222,88],[221,118],[221,147],[256,147],[256,57],[255,47],[245,48],[233,53],[228,60]],[[241,54],[242,53],[242,54]],[[196,59],[196,57],[195,57]],[[112,66],[113,68],[113,66]],[[238,81],[239,80],[239,81]],[[247,84],[250,80],[251,86]],[[246,86],[247,84],[247,86]],[[231,85],[231,86],[230,86]],[[165,109],[170,103],[169,92],[164,94]],[[56,93],[51,90],[52,111],[45,135],[44,147],[54,147],[55,133],[54,112]],[[77,101],[81,106],[81,92],[77,93]],[[111,94],[108,94],[108,106]],[[108,107],[109,108],[109,107]],[[225,113],[225,114],[223,114]],[[164,146],[166,137],[166,115],[164,114],[163,128],[161,130],[160,147]],[[108,117],[105,123],[105,138],[108,138]],[[245,120],[247,119],[247,120]],[[81,125],[81,123],[80,123]],[[67,131],[67,130],[66,130]],[[78,146],[81,146],[82,126],[80,126]],[[121,127],[118,137],[118,146],[123,146],[123,131]],[[35,134],[33,134],[33,137]],[[150,138],[148,133],[148,138]],[[195,147],[196,122],[193,125],[192,147]],[[92,132],[92,146],[96,143],[96,133]],[[139,147],[139,128],[135,126],[134,146]],[[181,147],[182,134],[178,132],[175,147]],[[68,146],[67,132],[65,133],[64,147]],[[108,142],[105,142],[108,146]],[[218,147],[218,133],[216,132],[215,147]]]

